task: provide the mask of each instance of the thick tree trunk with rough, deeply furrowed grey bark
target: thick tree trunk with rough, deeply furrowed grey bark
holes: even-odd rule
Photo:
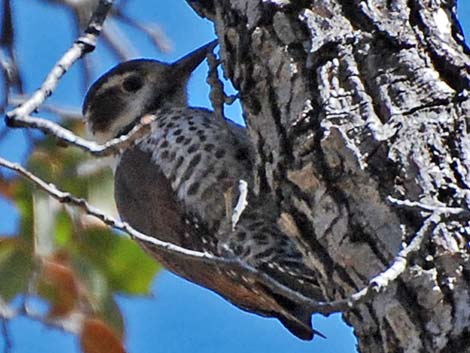
[[[469,50],[454,0],[189,1],[215,24],[257,190],[327,297],[388,268],[429,212],[468,209]],[[445,216],[405,273],[344,313],[360,352],[470,351],[470,224]]]

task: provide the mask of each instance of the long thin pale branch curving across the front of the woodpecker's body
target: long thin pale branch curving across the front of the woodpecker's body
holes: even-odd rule
[[[141,242],[148,243],[153,247],[159,249],[160,251],[177,256],[183,256],[188,260],[198,261],[209,265],[222,265],[224,267],[242,269],[242,271],[244,271],[246,274],[260,281],[265,286],[273,290],[275,293],[285,296],[286,298],[291,299],[295,302],[301,303],[306,308],[310,309],[313,313],[321,313],[323,315],[329,315],[334,312],[347,311],[348,309],[351,309],[357,306],[358,304],[363,303],[373,294],[383,291],[389,285],[389,283],[396,280],[407,269],[407,264],[410,255],[419,250],[425,236],[432,231],[433,225],[439,223],[442,216],[441,212],[435,211],[431,214],[431,216],[426,218],[420,230],[416,233],[415,237],[410,242],[410,244],[398,253],[389,268],[387,268],[385,271],[383,271],[376,277],[372,278],[369,281],[367,287],[363,288],[362,290],[356,292],[355,294],[351,295],[346,299],[331,302],[319,302],[311,298],[305,297],[304,295],[296,291],[293,291],[289,287],[280,284],[279,282],[275,281],[273,278],[264,273],[260,273],[256,268],[249,266],[248,264],[240,261],[237,258],[217,257],[211,254],[186,249],[181,246],[145,235],[132,228],[129,224],[125,222],[120,222],[115,218],[106,215],[105,213],[101,212],[98,208],[88,204],[86,200],[77,198],[68,192],[59,190],[54,184],[45,182],[44,180],[40,179],[39,177],[27,171],[16,163],[11,163],[0,157],[0,165],[21,174],[27,180],[34,183],[36,186],[47,192],[50,196],[52,196],[59,202],[67,203],[82,209],[88,215],[98,218],[106,225],[128,234],[134,240],[139,240]]]

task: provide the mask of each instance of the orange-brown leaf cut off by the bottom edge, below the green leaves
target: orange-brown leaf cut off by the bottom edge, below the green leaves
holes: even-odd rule
[[[86,319],[80,335],[84,353],[126,353],[119,336],[99,319]]]

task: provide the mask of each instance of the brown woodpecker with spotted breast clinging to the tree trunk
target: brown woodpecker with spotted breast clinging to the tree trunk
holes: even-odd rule
[[[129,133],[143,116],[155,117],[150,131],[118,156],[114,197],[119,215],[148,236],[238,261],[201,263],[141,241],[168,270],[245,311],[277,318],[300,339],[324,337],[312,327],[311,309],[277,293],[243,266],[308,298],[324,299],[315,271],[277,224],[274,203],[253,191],[255,152],[246,128],[188,104],[191,73],[216,45],[208,43],[173,63],[120,63],[89,88],[83,115],[99,143]],[[234,224],[230,216],[241,181],[248,185],[248,205]]]

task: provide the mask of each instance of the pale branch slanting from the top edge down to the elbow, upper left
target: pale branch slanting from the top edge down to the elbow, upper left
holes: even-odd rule
[[[8,126],[28,126],[31,120],[30,115],[52,94],[62,76],[78,59],[94,50],[103,22],[112,4],[113,0],[100,0],[83,35],[75,41],[72,47],[54,65],[41,87],[25,103],[7,114],[5,120]]]

